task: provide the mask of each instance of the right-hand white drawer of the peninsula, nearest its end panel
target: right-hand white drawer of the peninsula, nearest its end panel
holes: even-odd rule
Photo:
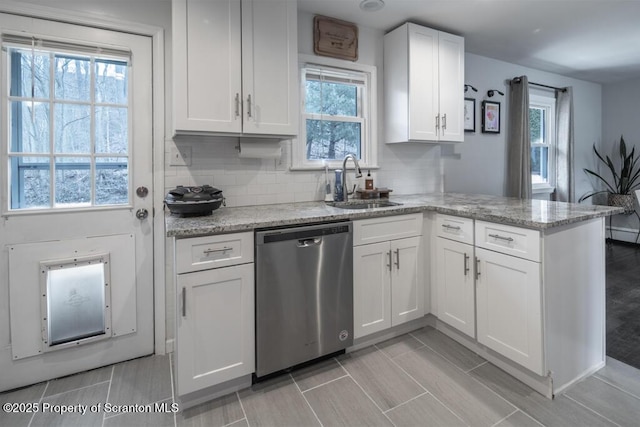
[[[540,232],[476,221],[476,246],[540,262]]]

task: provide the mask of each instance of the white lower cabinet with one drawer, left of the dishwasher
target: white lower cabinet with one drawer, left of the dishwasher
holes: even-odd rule
[[[237,237],[236,237],[237,236]],[[180,396],[255,370],[253,233],[178,240],[176,385]],[[207,269],[208,268],[208,269]]]

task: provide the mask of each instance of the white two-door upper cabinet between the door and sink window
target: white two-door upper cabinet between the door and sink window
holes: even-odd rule
[[[296,135],[296,3],[172,4],[174,133]]]

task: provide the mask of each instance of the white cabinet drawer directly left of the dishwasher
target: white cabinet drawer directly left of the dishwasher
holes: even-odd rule
[[[253,262],[253,233],[177,239],[176,273]]]

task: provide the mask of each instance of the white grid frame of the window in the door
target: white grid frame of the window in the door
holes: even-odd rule
[[[11,140],[9,137],[9,132],[4,135],[4,138],[0,139],[2,141],[3,148],[0,151],[2,161],[7,165],[6,171],[3,173],[3,178],[0,182],[2,182],[3,193],[5,193],[6,198],[3,199],[2,203],[2,215],[28,215],[34,213],[53,213],[53,212],[77,212],[77,211],[100,211],[100,210],[113,210],[113,209],[131,209],[133,203],[133,195],[132,195],[132,114],[127,114],[127,152],[126,153],[98,153],[95,150],[96,147],[96,136],[93,133],[95,129],[95,110],[98,107],[124,107],[129,112],[132,108],[132,81],[131,81],[131,52],[128,50],[114,49],[111,47],[102,47],[99,45],[80,45],[73,44],[67,41],[57,41],[54,39],[37,39],[35,37],[25,37],[22,34],[14,35],[11,33],[4,33],[1,37],[3,52],[2,52],[2,62],[4,64],[14,63],[16,58],[10,58],[9,50],[10,49],[20,49],[20,50],[32,50],[34,48],[34,44],[36,42],[39,43],[37,50],[39,52],[47,52],[47,55],[51,59],[49,77],[53,79],[51,73],[54,73],[55,68],[55,58],[58,57],[79,57],[79,58],[87,58],[92,69],[91,76],[91,96],[89,100],[64,100],[57,99],[55,97],[55,92],[53,85],[49,88],[49,95],[45,98],[34,97],[34,96],[22,96],[22,95],[12,95],[10,93],[10,87],[15,82],[13,81],[13,65],[11,66],[11,70],[9,67],[6,67],[4,72],[1,74],[2,82],[2,99],[5,103],[5,108],[0,109],[3,114],[3,123],[7,124],[7,129],[12,126],[12,122],[14,120],[14,115],[16,111],[9,104],[12,101],[34,101],[46,103],[49,105],[49,112],[51,114],[51,124],[50,127],[55,126],[55,115],[53,108],[54,105],[86,105],[89,106],[90,111],[92,112],[91,118],[91,141],[90,141],[90,152],[87,153],[58,153],[53,148],[55,135],[51,132],[49,146],[50,149],[47,153],[30,153],[23,151],[14,151],[17,145],[15,141]],[[30,44],[29,44],[30,42]],[[126,104],[113,104],[111,102],[97,102],[94,99],[95,90],[95,64],[97,62],[115,62],[123,64],[128,68],[128,89],[127,89],[127,99]],[[50,82],[52,82],[51,80]],[[21,114],[21,113],[20,113]],[[21,131],[21,130],[19,130]],[[29,157],[41,157],[48,158],[48,163],[37,163],[37,162],[25,162],[24,159],[28,159]],[[66,163],[66,162],[56,162],[56,159],[69,159],[69,158],[88,158],[89,162],[74,162],[74,163]],[[121,158],[126,159],[126,163],[122,161],[119,162],[100,162],[100,159],[110,159],[110,158]],[[11,167],[9,163],[11,162]],[[90,191],[90,201],[88,203],[79,202],[79,203],[56,203],[55,200],[55,175],[60,170],[69,169],[71,166],[74,170],[89,170],[91,174],[91,191]],[[15,167],[15,168],[14,168]],[[98,204],[96,198],[96,173],[101,169],[113,169],[120,170],[126,169],[128,173],[128,183],[127,183],[127,200],[122,203],[115,204]],[[20,174],[26,170],[47,170],[49,176],[51,177],[50,188],[49,188],[49,206],[34,206],[34,207],[12,207],[12,200],[22,194],[24,192],[23,183],[21,182]],[[17,184],[18,188],[14,188]]]

